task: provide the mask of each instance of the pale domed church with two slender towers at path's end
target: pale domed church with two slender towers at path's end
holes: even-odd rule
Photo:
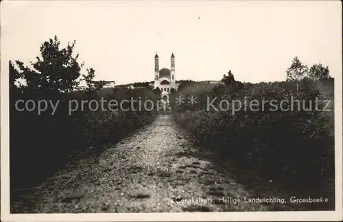
[[[154,89],[159,88],[161,90],[161,97],[167,97],[169,99],[170,91],[172,88],[176,90],[178,84],[175,79],[175,56],[171,53],[170,57],[170,69],[159,68],[158,55],[156,53],[155,58],[155,69],[154,69]]]

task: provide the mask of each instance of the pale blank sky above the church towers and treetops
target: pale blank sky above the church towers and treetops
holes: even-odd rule
[[[342,77],[340,1],[1,1],[6,58],[34,62],[55,35],[116,84],[152,81],[156,52],[177,80],[282,81],[294,56]]]

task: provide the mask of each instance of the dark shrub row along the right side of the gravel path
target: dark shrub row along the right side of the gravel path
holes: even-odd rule
[[[297,190],[325,186],[323,184],[333,179],[333,79],[244,84],[235,93],[223,85],[209,90],[206,95],[218,97],[216,107],[223,99],[236,99],[241,103],[256,99],[260,104],[263,99],[276,100],[280,105],[282,100],[289,101],[292,96],[294,100],[304,101],[305,108],[312,102],[310,111],[302,108],[271,111],[266,103],[264,110],[260,106],[259,110],[241,109],[235,114],[231,109],[208,110],[206,105],[196,110],[175,106],[174,116],[182,127],[237,169],[253,170],[266,180]],[[323,100],[331,100],[326,108],[331,111],[315,110],[316,98],[322,100],[318,102],[320,109],[326,106]],[[290,104],[283,106],[286,107],[290,108]]]

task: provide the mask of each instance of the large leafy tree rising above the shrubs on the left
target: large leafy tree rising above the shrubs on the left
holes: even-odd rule
[[[16,61],[28,89],[53,90],[58,93],[71,92],[79,84],[80,70],[78,55],[73,56],[75,41],[66,48],[60,49],[57,36],[45,41],[40,46],[40,57],[32,63],[32,68]]]

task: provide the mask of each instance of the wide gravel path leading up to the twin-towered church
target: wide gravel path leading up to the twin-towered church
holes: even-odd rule
[[[208,153],[196,149],[192,140],[171,116],[158,116],[97,158],[80,160],[68,171],[56,173],[34,193],[14,201],[11,212],[218,212],[285,207],[244,203],[244,198],[252,197],[251,191],[237,184],[230,173],[216,171],[203,158]],[[176,203],[176,197],[184,202]],[[192,197],[193,203],[185,203]],[[196,203],[200,198],[209,203]],[[234,204],[233,199],[241,203]]]

